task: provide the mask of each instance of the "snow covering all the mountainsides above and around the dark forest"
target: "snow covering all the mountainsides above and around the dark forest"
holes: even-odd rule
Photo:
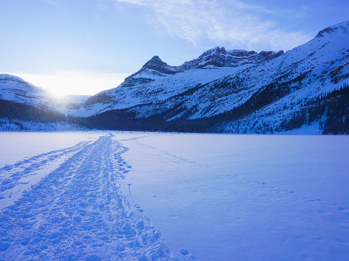
[[[207,50],[198,58],[180,65],[184,66],[182,69],[180,66],[171,67],[163,63],[159,57],[154,56],[140,71],[127,77],[118,87],[91,96],[88,101],[87,96],[65,96],[53,99],[47,96],[43,89],[24,82],[18,77],[0,74],[0,98],[56,109],[73,116],[88,117],[107,110],[127,109],[136,112],[137,117],[148,117],[167,111],[170,119],[183,115],[189,115],[188,118],[195,119],[232,110],[242,105],[264,86],[275,82],[276,79],[279,83],[287,83],[303,75],[305,77],[302,78],[303,80],[289,82],[289,94],[277,97],[275,101],[242,118],[223,122],[217,126],[219,131],[227,133],[283,131],[280,129],[281,120],[289,120],[295,112],[304,109],[303,104],[307,100],[349,84],[348,27],[349,22],[328,27],[309,42],[259,64],[220,68],[208,65],[202,69],[187,70],[195,68],[196,62],[206,63],[205,61],[213,54],[228,57],[242,52],[242,50],[226,50],[223,54],[223,47]],[[253,54],[253,51],[246,52],[246,55],[250,53],[252,55],[245,58],[258,56],[257,53]],[[241,54],[237,56],[239,55]],[[245,58],[238,60],[241,63],[249,61]],[[253,61],[252,59],[251,62]],[[151,66],[148,68],[149,64]],[[154,68],[158,68],[159,71]],[[161,72],[167,70],[171,73],[185,71],[174,74]],[[173,113],[178,114],[172,115]],[[258,125],[256,121],[259,122]],[[260,129],[262,122],[268,126],[267,130]],[[303,126],[302,129],[289,133],[320,134],[317,124]],[[15,129],[16,126],[13,125],[10,128]],[[35,126],[35,128],[54,130],[56,127]],[[62,128],[64,126],[58,126],[56,129]],[[69,129],[73,127],[69,126]]]

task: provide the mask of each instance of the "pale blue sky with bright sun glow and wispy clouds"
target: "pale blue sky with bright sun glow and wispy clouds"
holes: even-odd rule
[[[216,46],[286,52],[348,21],[348,9],[348,0],[2,1],[0,72],[93,95],[154,55],[176,66]]]

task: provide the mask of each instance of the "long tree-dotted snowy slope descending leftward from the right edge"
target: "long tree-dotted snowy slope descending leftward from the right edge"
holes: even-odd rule
[[[229,76],[130,110],[138,117],[163,113],[172,120],[210,117],[244,105],[246,115],[220,124],[220,132],[259,132],[260,124],[277,129],[307,100],[348,84],[348,27],[349,22],[328,27],[311,41],[273,60],[240,66]]]

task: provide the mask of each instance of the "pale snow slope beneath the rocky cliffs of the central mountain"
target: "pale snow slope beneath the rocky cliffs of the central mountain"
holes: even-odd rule
[[[160,102],[174,95],[185,92],[198,84],[220,79],[239,69],[246,68],[247,65],[236,67],[206,68],[195,69],[169,75],[167,77],[158,77],[154,82],[147,84],[138,84],[128,86],[124,83],[120,86],[105,90],[97,95],[106,95],[110,98],[104,103],[94,103],[88,108],[79,108],[77,110],[60,108],[60,111],[69,113],[73,116],[88,117],[96,113],[101,113],[112,109],[125,109],[143,103]],[[154,78],[154,74],[147,74],[149,70],[143,71],[140,77]],[[148,75],[148,76],[147,76]],[[155,78],[154,78],[155,79]]]

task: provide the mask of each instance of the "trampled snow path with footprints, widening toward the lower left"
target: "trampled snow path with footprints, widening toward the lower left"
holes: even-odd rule
[[[0,259],[192,258],[172,255],[132,195],[121,193],[131,193],[122,182],[131,166],[112,136],[0,169]],[[54,170],[45,173],[46,164]]]

